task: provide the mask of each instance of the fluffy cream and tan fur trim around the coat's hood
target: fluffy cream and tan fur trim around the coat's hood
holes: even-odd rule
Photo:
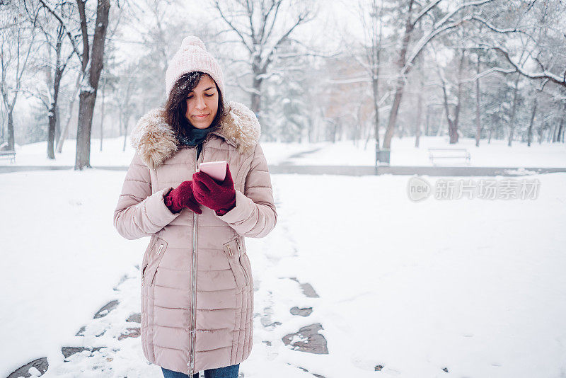
[[[139,118],[132,130],[130,142],[141,161],[156,169],[178,151],[178,140],[173,127],[163,118],[163,108],[149,110]],[[260,122],[255,114],[241,103],[230,101],[220,126],[210,132],[236,147],[241,154],[253,151],[260,139]]]

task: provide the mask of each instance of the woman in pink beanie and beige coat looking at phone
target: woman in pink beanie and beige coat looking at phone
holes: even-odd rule
[[[169,62],[164,108],[132,132],[136,149],[114,212],[126,239],[151,236],[141,264],[141,345],[164,377],[238,377],[253,339],[244,237],[277,223],[260,125],[224,102],[224,78],[190,36]],[[198,171],[227,161],[219,183]]]

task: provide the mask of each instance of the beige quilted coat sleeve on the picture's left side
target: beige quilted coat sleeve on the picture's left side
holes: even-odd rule
[[[118,234],[129,240],[139,239],[155,234],[171,223],[180,214],[171,212],[163,200],[171,189],[173,187],[151,194],[149,168],[136,153],[114,210],[114,227]]]

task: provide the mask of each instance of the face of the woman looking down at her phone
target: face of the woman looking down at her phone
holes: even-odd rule
[[[202,76],[195,90],[187,95],[185,117],[191,125],[197,129],[206,129],[212,124],[218,110],[218,96],[214,80],[208,75]]]

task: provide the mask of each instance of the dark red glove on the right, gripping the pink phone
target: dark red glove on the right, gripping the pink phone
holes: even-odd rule
[[[200,171],[192,174],[192,183],[197,202],[214,210],[216,215],[224,215],[236,206],[236,190],[227,163],[226,177],[221,183]]]

